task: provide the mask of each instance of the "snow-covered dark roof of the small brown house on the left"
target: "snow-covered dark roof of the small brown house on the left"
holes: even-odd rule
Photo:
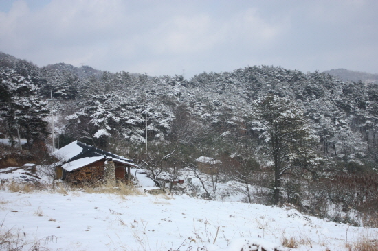
[[[113,161],[118,163],[137,167],[137,165],[133,163],[133,160],[130,160],[129,158],[124,158],[117,154],[112,154],[111,152],[100,150],[80,141],[69,143],[65,147],[62,147],[59,150],[53,152],[53,155],[63,162],[66,162],[62,167],[67,171],[73,171],[74,169],[85,167],[86,165],[89,165],[105,157],[111,157],[113,158]],[[93,162],[88,163],[92,160]],[[71,164],[68,165],[69,163]]]

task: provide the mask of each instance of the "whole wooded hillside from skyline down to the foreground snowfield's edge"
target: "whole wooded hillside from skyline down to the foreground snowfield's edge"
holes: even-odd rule
[[[273,66],[186,80],[4,58],[0,132],[10,152],[18,134],[25,139],[36,164],[51,161],[54,112],[55,147],[80,140],[126,156],[159,187],[204,156],[219,165],[192,174],[199,181],[188,195],[223,200],[234,182],[241,202],[378,226],[377,84]]]

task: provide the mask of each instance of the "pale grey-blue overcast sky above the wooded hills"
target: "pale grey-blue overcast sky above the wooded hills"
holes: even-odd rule
[[[1,0],[0,51],[186,78],[261,64],[378,73],[378,1]]]

